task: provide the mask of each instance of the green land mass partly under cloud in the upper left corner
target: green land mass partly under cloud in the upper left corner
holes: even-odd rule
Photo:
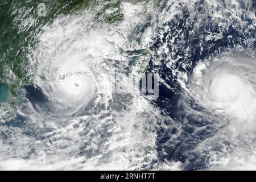
[[[94,19],[98,23],[115,24],[124,18],[122,2],[150,2],[155,0],[1,0],[0,2],[0,101],[15,108],[20,105],[19,89],[31,85],[32,75],[28,55],[38,40],[40,28],[63,14],[77,14],[80,10],[97,9]],[[46,4],[46,16],[38,16],[39,3]],[[32,19],[32,21],[31,21]],[[150,20],[148,16],[147,20]],[[143,25],[134,28],[130,39]],[[29,48],[30,47],[30,48]],[[144,55],[146,52],[142,52]],[[145,55],[144,55],[145,56]],[[137,59],[134,59],[134,62]],[[134,63],[133,63],[134,64]],[[10,99],[12,98],[12,99]],[[1,105],[2,105],[1,104]]]

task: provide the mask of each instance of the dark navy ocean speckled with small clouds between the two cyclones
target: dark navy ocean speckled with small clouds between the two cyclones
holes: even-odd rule
[[[158,71],[160,77],[165,84],[160,85],[159,99],[154,101],[164,114],[170,115],[173,121],[164,121],[164,126],[158,132],[158,151],[160,160],[175,160],[184,163],[184,169],[197,170],[206,169],[209,166],[209,157],[205,154],[209,152],[207,149],[200,152],[195,152],[195,148],[216,134],[216,129],[213,127],[214,119],[211,117],[202,117],[195,113],[187,112],[187,105],[199,113],[204,113],[204,108],[197,105],[193,100],[186,100],[184,105],[182,100],[183,89],[177,82],[176,75],[172,75],[172,70],[167,66],[168,60],[180,57],[174,69],[178,72],[187,72],[189,76],[193,75],[193,69],[201,60],[211,59],[217,55],[225,52],[239,52],[241,49],[250,53],[255,52],[255,26],[250,18],[244,16],[242,18],[245,26],[241,26],[239,22],[233,19],[228,22],[227,26],[223,28],[216,23],[209,15],[203,15],[204,11],[201,9],[204,1],[198,1],[195,9],[197,14],[191,16],[186,6],[180,5],[182,15],[177,17],[178,20],[171,20],[165,22],[162,26],[167,26],[168,31],[164,31],[159,27],[159,36],[156,35],[154,44],[151,47],[155,52],[154,59],[160,59],[159,65],[150,64],[148,72]],[[253,2],[253,9],[255,10],[256,2]],[[163,8],[164,3],[163,3]],[[241,6],[241,8],[245,8]],[[203,15],[203,20],[202,20]],[[180,18],[182,17],[182,18]],[[199,19],[202,23],[197,26]],[[225,22],[225,19],[221,20]],[[191,34],[191,32],[193,34]],[[209,34],[220,34],[221,39],[205,40]],[[181,36],[182,35],[182,36]],[[171,39],[175,39],[175,43],[171,44]],[[159,55],[158,49],[167,45],[169,52],[163,52]],[[203,51],[201,49],[203,48]],[[167,56],[168,55],[168,56]],[[189,55],[189,56],[187,56]],[[168,88],[167,86],[168,85]],[[169,86],[172,88],[170,89]],[[179,126],[177,129],[174,123]],[[199,133],[195,131],[203,127]],[[181,130],[178,132],[178,130]],[[226,142],[229,145],[229,142]],[[218,151],[218,144],[215,146]],[[163,154],[163,151],[165,153]]]

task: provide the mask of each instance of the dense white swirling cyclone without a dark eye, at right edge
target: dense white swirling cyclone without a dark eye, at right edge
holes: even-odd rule
[[[200,63],[194,71],[197,95],[203,105],[231,119],[237,134],[255,130],[256,64],[247,57],[223,56],[212,64]]]

